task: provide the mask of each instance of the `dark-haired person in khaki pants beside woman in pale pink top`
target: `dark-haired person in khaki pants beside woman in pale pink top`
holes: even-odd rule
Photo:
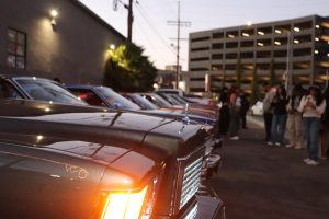
[[[288,132],[287,148],[302,149],[304,146],[302,113],[298,112],[303,94],[302,85],[296,84],[292,91],[292,95],[288,97],[286,106],[288,113],[286,122],[286,130]]]

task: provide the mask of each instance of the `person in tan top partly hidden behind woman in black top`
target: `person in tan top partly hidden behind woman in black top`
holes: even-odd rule
[[[265,126],[265,141],[268,142],[271,139],[271,126],[273,117],[273,107],[272,101],[275,96],[275,88],[272,88],[269,84],[264,84],[265,97],[263,100],[263,111],[264,111],[264,126]]]

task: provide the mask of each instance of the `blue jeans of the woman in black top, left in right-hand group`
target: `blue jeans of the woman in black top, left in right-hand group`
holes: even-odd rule
[[[271,127],[271,141],[283,143],[286,114],[273,114]]]

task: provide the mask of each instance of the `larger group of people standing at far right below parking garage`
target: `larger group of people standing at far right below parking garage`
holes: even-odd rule
[[[296,84],[291,94],[283,85],[266,87],[263,100],[264,125],[266,143],[269,146],[283,146],[285,131],[288,142],[285,147],[295,149],[307,148],[308,158],[304,162],[308,165],[318,164],[320,131],[328,138],[329,126],[329,89],[325,92],[318,85],[309,87],[306,92],[302,85]],[[328,103],[329,104],[329,103]],[[328,139],[327,143],[328,155]]]

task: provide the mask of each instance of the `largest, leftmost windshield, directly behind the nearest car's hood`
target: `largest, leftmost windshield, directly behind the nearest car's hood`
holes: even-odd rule
[[[41,79],[15,79],[15,81],[33,100],[87,105],[55,82]]]

